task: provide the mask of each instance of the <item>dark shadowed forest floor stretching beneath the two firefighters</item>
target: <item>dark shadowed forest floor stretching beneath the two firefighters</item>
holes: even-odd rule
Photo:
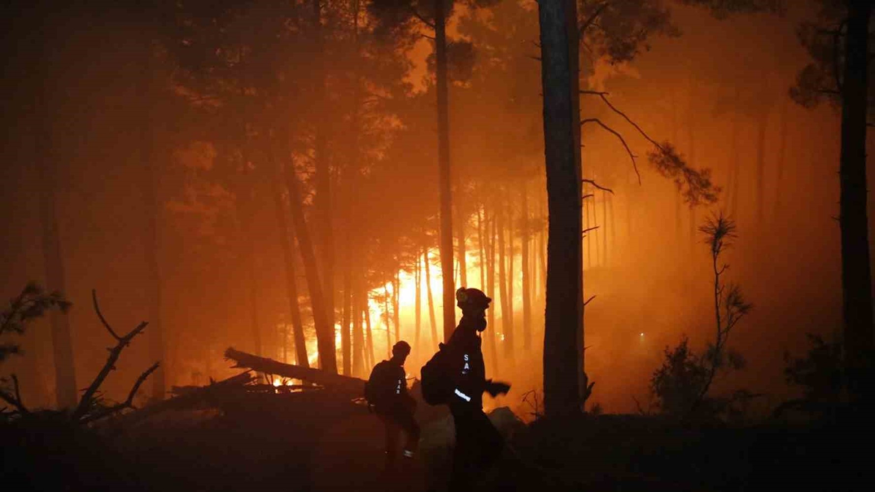
[[[0,424],[4,490],[425,490],[446,476],[441,415],[420,460],[381,474],[382,431],[362,407],[270,395],[166,413],[112,439],[59,419]],[[869,422],[682,427],[585,415],[518,427],[478,488],[490,490],[873,490]],[[427,439],[427,442],[425,442]],[[425,463],[428,463],[426,466]],[[437,488],[439,489],[439,487]]]

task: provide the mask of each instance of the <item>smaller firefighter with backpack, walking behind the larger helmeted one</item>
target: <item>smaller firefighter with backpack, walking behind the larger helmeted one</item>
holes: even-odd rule
[[[403,456],[413,458],[419,444],[419,425],[413,417],[416,400],[407,392],[404,361],[410,354],[410,345],[399,341],[392,347],[392,358],[379,362],[365,383],[365,399],[386,428],[386,471],[395,467],[399,434],[406,440]]]

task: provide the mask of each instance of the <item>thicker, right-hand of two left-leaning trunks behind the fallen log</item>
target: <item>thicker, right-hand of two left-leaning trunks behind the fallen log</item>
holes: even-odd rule
[[[327,317],[328,311],[325,309],[324,291],[319,282],[316,255],[313,253],[310,231],[307,229],[307,222],[304,220],[301,192],[298,188],[295,169],[290,165],[286,165],[285,168],[285,182],[286,187],[289,189],[291,223],[297,236],[301,258],[304,260],[304,276],[307,279],[307,286],[310,291],[313,324],[316,327],[319,368],[337,374],[337,355],[334,352],[334,327]]]

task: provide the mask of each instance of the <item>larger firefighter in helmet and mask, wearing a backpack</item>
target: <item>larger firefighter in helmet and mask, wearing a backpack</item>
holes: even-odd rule
[[[450,490],[472,487],[504,448],[504,439],[483,412],[483,393],[495,397],[510,390],[507,383],[486,379],[480,334],[486,330],[486,309],[492,299],[479,289],[456,291],[462,319],[446,344],[422,369],[423,398],[429,404],[447,404],[456,427]]]

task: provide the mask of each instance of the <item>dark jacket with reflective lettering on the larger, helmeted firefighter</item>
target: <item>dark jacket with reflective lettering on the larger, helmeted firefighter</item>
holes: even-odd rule
[[[486,390],[486,365],[477,335],[477,321],[465,318],[458,321],[452,332],[447,348],[450,348],[455,371],[456,388],[471,401],[454,394],[451,401],[472,408],[483,408],[483,391]]]

